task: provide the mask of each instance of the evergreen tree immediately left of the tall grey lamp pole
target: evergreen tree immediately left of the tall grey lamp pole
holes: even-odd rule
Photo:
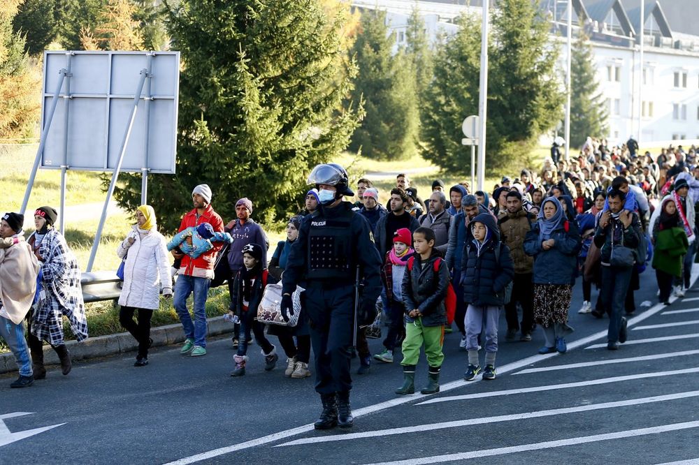
[[[470,148],[461,145],[461,123],[478,114],[479,20],[457,19],[459,30],[436,47],[433,82],[426,91],[421,154],[449,172],[470,172]]]

